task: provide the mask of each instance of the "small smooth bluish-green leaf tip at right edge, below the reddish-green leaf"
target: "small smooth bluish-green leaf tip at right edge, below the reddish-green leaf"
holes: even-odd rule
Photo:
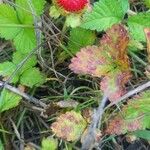
[[[133,132],[136,137],[143,138],[145,140],[150,140],[150,131],[148,130],[138,130]]]

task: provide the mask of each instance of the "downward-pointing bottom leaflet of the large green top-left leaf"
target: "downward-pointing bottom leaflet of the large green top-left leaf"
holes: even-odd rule
[[[22,29],[14,38],[14,45],[21,53],[30,53],[36,47],[36,36],[34,29]]]

